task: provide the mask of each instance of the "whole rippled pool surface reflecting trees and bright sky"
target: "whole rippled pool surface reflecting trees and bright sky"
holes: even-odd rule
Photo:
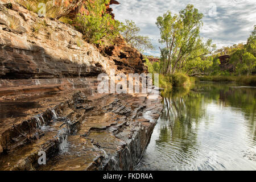
[[[165,90],[138,170],[255,170],[256,88],[200,82]]]

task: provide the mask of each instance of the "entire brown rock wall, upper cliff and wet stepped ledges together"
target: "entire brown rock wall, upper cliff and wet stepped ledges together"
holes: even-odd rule
[[[98,74],[110,69],[147,72],[142,58],[121,37],[93,46],[72,26],[0,0],[0,169],[133,169],[162,110],[160,97],[96,88]],[[42,150],[44,167],[37,163]]]

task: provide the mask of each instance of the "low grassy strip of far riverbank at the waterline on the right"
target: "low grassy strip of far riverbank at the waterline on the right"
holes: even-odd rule
[[[196,81],[237,82],[238,84],[256,85],[256,75],[252,76],[204,76]]]

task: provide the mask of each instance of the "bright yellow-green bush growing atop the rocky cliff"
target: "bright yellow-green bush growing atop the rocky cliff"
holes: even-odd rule
[[[109,0],[96,0],[88,3],[86,6],[88,14],[77,14],[72,24],[80,31],[86,42],[102,43],[102,39],[107,39],[111,42],[119,31],[122,30],[121,23],[112,19],[112,16],[106,13],[106,4]]]

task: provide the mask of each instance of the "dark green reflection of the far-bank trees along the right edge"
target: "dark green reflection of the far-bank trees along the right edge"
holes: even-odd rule
[[[207,83],[205,85],[197,85],[194,89],[203,90],[203,94],[208,98],[208,102],[214,100],[217,101],[218,105],[230,106],[234,110],[240,110],[245,118],[247,130],[250,131],[249,133],[253,134],[248,137],[256,141],[256,88],[240,88],[230,83],[226,83],[225,85],[223,83]]]

